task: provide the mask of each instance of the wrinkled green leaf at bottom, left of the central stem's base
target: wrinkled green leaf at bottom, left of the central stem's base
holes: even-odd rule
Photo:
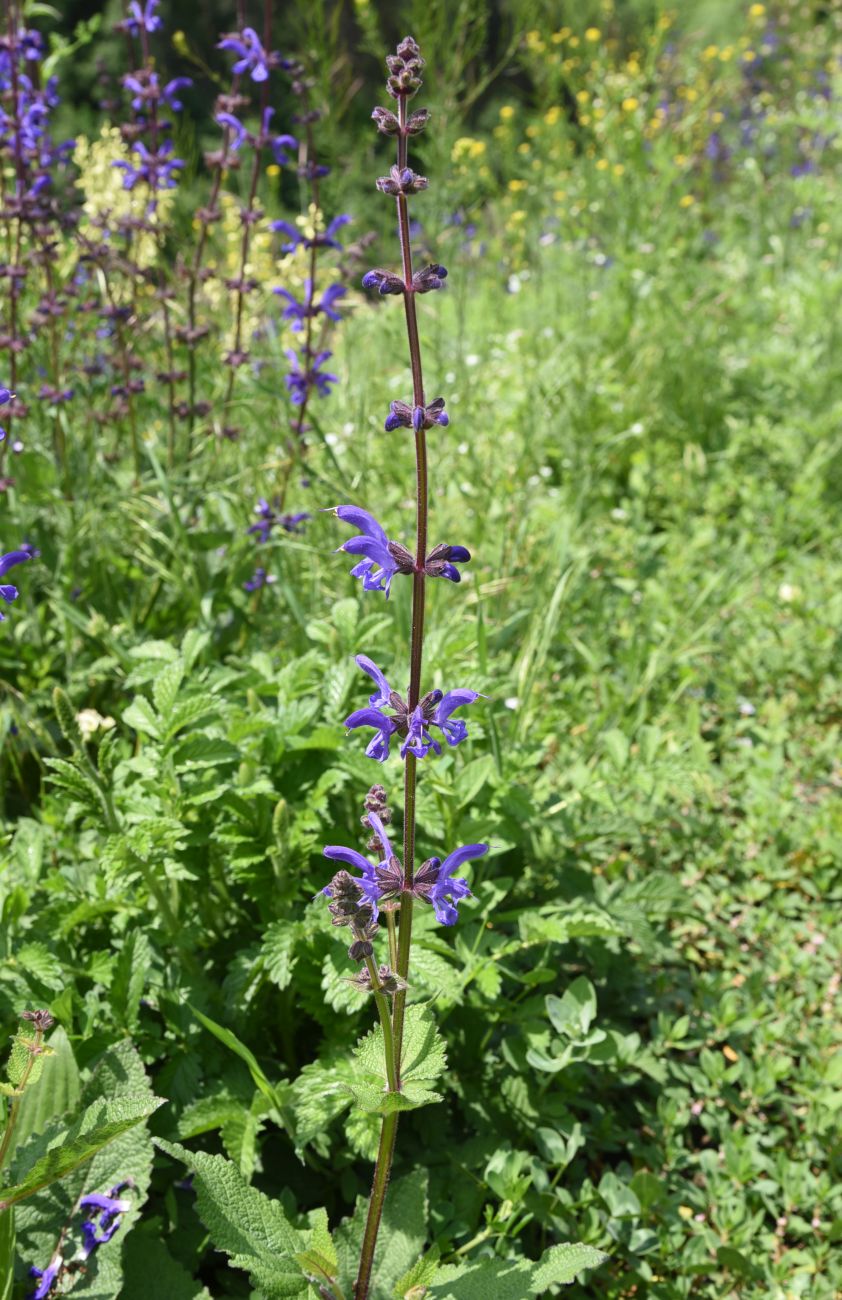
[[[187,1150],[162,1139],[156,1139],[156,1145],[194,1171],[199,1217],[233,1269],[248,1273],[252,1286],[269,1300],[307,1291],[295,1262],[305,1243],[277,1201],[249,1187],[223,1156]]]

